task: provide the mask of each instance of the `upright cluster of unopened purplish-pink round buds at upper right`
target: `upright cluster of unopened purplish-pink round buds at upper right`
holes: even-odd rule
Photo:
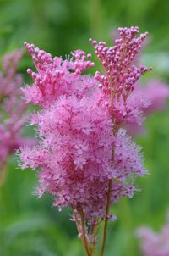
[[[115,84],[114,90],[125,94],[124,90],[126,92],[134,90],[134,83],[147,71],[144,66],[138,69],[132,63],[148,33],[141,34],[136,38],[135,36],[139,34],[137,27],[119,28],[119,31],[121,38],[115,40],[113,47],[106,47],[105,42],[97,43],[92,39],[90,42],[95,46],[95,53],[106,70],[106,77],[102,77],[97,72],[96,78],[103,82],[103,86],[106,85],[106,82],[109,84],[109,79],[111,79],[112,83]]]

